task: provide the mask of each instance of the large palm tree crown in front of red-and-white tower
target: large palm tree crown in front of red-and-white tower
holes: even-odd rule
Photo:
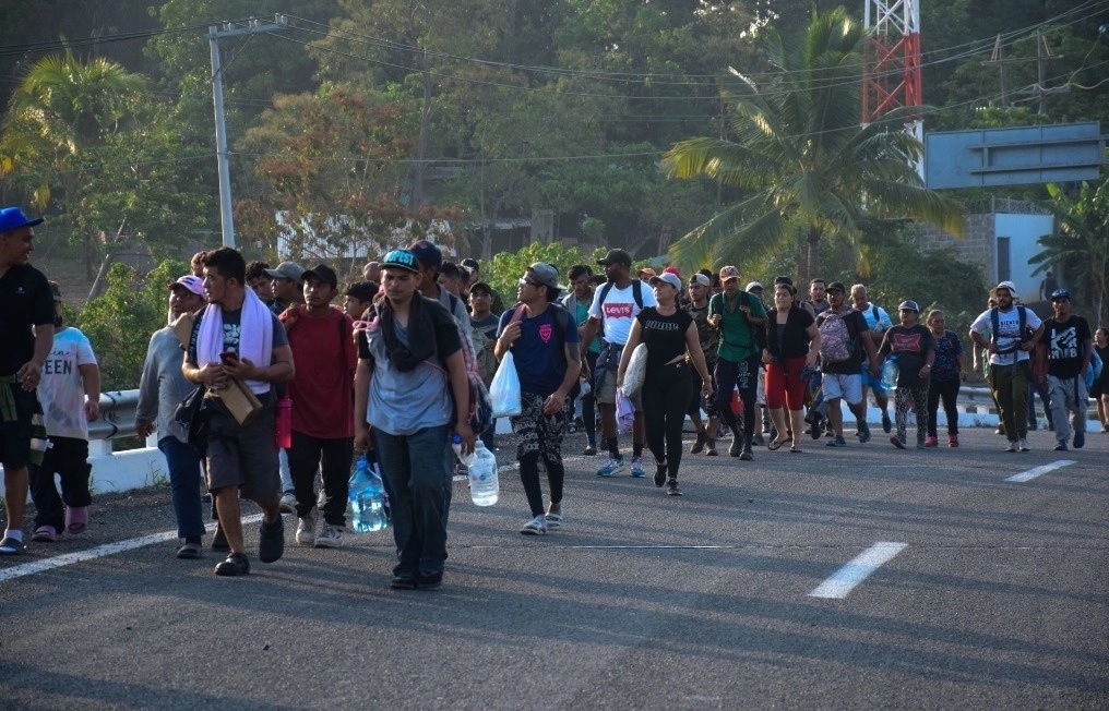
[[[914,217],[960,234],[960,208],[915,172],[923,146],[904,130],[904,114],[859,124],[859,22],[838,8],[817,13],[797,41],[772,29],[761,37],[769,82],[760,86],[731,69],[721,89],[734,140],[689,138],[663,157],[672,177],[709,177],[743,192],[671,247],[674,261],[689,267],[711,254],[716,264],[743,264],[801,235],[807,280],[818,274],[821,239],[857,246],[868,219]]]

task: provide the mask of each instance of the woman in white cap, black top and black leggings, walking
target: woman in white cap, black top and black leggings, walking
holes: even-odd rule
[[[696,326],[689,312],[678,308],[682,280],[673,274],[651,277],[658,306],[648,307],[635,316],[620,357],[617,385],[623,387],[624,371],[635,347],[647,344],[647,378],[643,383],[643,424],[647,446],[654,455],[654,485],[665,484],[667,493],[681,496],[678,487],[678,465],[682,461],[682,425],[692,396],[693,381],[686,351],[701,375],[701,390],[712,396],[712,381],[701,351]]]

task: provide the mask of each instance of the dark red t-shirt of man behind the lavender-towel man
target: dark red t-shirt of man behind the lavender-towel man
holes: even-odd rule
[[[296,375],[288,383],[293,429],[308,436],[354,436],[354,369],[358,362],[353,321],[332,308],[325,318],[302,313],[288,331]]]

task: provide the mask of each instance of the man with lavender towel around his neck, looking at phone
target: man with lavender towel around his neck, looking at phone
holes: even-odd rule
[[[262,411],[247,425],[240,425],[218,399],[212,399],[207,414],[207,485],[231,547],[215,574],[242,576],[251,564],[240,497],[262,508],[258,559],[273,563],[285,553],[273,385],[292,379],[295,370],[285,329],[246,286],[240,253],[221,247],[205,255],[204,292],[208,305],[193,327],[182,372],[190,382],[216,390],[236,378],[262,402]]]

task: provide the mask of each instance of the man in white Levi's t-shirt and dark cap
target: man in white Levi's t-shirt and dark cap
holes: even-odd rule
[[[635,315],[645,307],[655,306],[655,301],[654,291],[650,287],[631,278],[631,256],[627,251],[610,249],[598,264],[604,268],[608,284],[599,287],[593,293],[589,320],[581,334],[581,348],[582,363],[586,363],[586,350],[598,331],[601,331],[604,343],[597,359],[597,374],[593,380],[609,458],[597,470],[597,475],[612,476],[624,467],[617,441],[617,367],[620,364],[620,353],[628,342]],[[643,466],[640,462],[645,440],[642,405],[638,398],[632,400],[632,405],[635,409],[635,419],[632,425],[631,475],[643,476]]]

